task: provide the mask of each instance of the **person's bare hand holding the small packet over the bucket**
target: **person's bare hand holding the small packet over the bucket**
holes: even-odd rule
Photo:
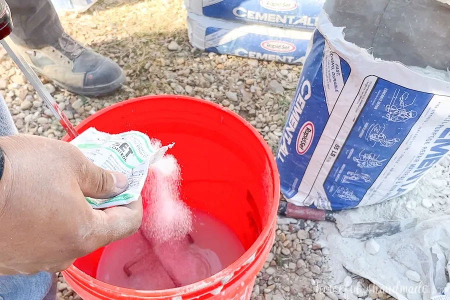
[[[0,137],[0,274],[66,269],[75,258],[134,233],[141,199],[93,209],[84,196],[123,192],[125,175],[90,162],[68,142],[35,135]]]

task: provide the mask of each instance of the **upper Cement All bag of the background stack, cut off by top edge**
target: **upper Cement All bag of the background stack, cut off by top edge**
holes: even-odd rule
[[[314,30],[325,0],[184,0],[187,11],[244,23]]]

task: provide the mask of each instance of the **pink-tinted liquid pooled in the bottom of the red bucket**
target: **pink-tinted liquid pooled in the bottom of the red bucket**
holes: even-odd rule
[[[198,209],[192,216],[190,241],[150,244],[137,232],[107,245],[96,278],[133,289],[173,288],[212,276],[244,253],[237,236],[218,219]]]

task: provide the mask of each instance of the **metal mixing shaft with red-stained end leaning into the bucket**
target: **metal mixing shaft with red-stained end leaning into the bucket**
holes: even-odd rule
[[[25,75],[26,79],[31,83],[34,87],[34,90],[37,94],[42,98],[48,108],[51,110],[53,115],[58,119],[61,126],[67,132],[67,134],[71,138],[75,138],[78,133],[75,128],[72,126],[70,121],[67,119],[65,114],[61,111],[59,106],[54,101],[53,97],[47,91],[47,89],[43,86],[39,77],[37,77],[36,73],[31,69],[29,64],[20,54],[20,52],[15,47],[12,42],[9,34],[12,32],[12,19],[11,13],[9,11],[9,6],[6,4],[5,0],[0,0],[0,43],[9,54],[9,56],[14,60],[15,64],[20,68],[23,75]]]

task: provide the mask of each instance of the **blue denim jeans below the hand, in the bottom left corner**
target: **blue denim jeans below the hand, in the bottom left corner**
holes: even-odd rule
[[[0,300],[55,299],[55,274],[39,272],[35,275],[0,276]]]

